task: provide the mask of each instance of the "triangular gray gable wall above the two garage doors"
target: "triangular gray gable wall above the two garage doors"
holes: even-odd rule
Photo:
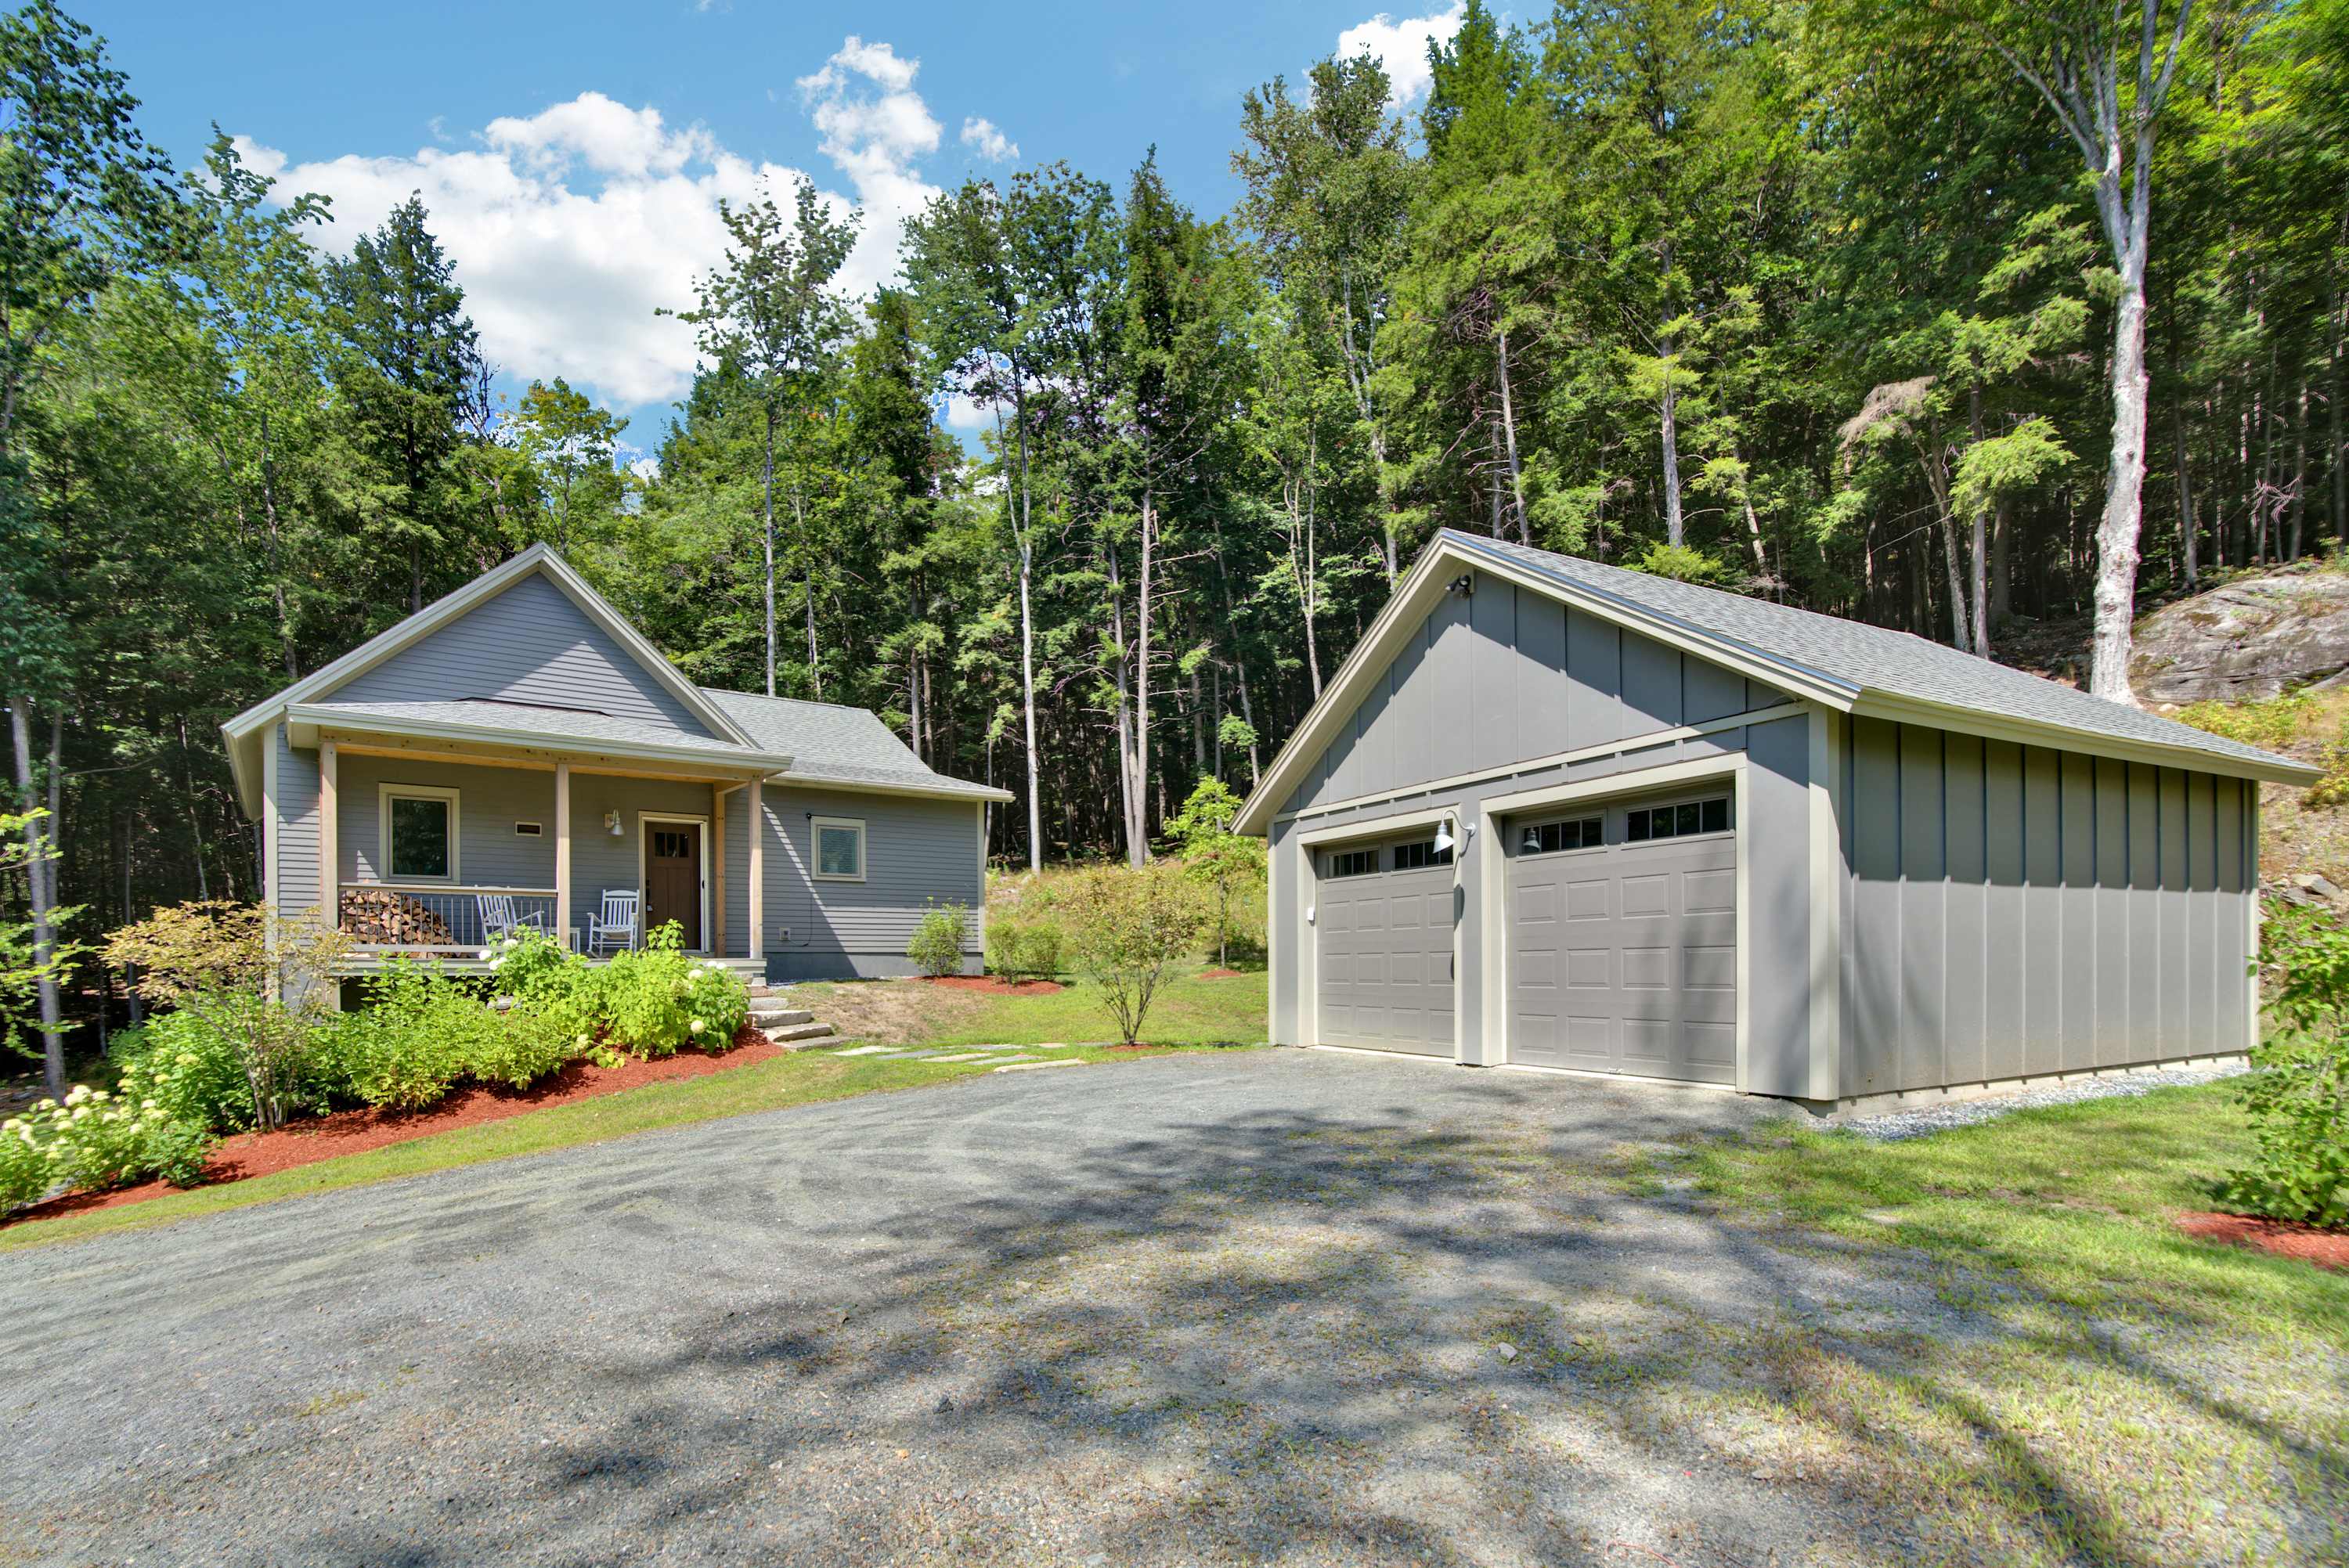
[[[1478,570],[1348,676],[1353,709],[1283,812],[1621,746],[1792,697],[1553,594]]]

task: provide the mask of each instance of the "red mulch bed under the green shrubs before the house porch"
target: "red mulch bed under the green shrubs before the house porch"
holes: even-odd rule
[[[709,1073],[726,1073],[728,1068],[747,1068],[756,1061],[768,1061],[782,1054],[785,1049],[780,1045],[768,1042],[766,1035],[745,1023],[735,1030],[733,1049],[726,1054],[686,1047],[674,1056],[658,1056],[651,1061],[637,1061],[630,1056],[615,1068],[599,1068],[592,1061],[573,1061],[561,1073],[540,1077],[529,1089],[507,1089],[505,1084],[463,1084],[439,1106],[428,1106],[423,1110],[378,1110],[373,1106],[362,1106],[359,1110],[336,1110],[334,1115],[291,1122],[277,1131],[242,1131],[233,1138],[221,1138],[211,1150],[211,1160],[204,1162],[204,1181],[207,1185],[221,1181],[249,1181],[251,1176],[291,1171],[298,1164],[359,1155],[388,1143],[430,1138],[432,1134],[449,1131],[453,1127],[503,1122],[529,1110],[590,1101],[601,1094],[618,1094],[620,1089],[669,1082],[672,1077],[707,1077]],[[7,1223],[21,1225],[26,1221],[49,1221],[61,1214],[82,1214],[87,1209],[120,1209],[122,1204],[139,1204],[174,1190],[176,1188],[167,1181],[143,1181],[136,1188],[115,1188],[113,1192],[68,1192],[63,1197],[52,1197],[45,1204],[23,1209]]]

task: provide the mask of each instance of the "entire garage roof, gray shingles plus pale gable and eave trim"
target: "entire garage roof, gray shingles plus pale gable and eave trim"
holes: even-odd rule
[[[2318,777],[2307,763],[1910,631],[1445,528],[1395,584],[1386,610],[1250,793],[1236,824],[1240,831],[1268,829],[1280,800],[1353,711],[1360,683],[1393,657],[1393,638],[1433,608],[1445,570],[1456,566],[1506,577],[1839,714],[2253,779],[2307,784]]]

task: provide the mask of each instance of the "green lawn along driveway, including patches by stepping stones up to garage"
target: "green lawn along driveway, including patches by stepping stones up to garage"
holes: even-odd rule
[[[829,986],[794,986],[794,998],[824,1016],[822,993]],[[848,988],[857,991],[857,988]],[[961,1016],[956,1028],[940,1033],[923,1045],[961,1042],[1041,1042],[1041,1040],[1102,1040],[1106,1033],[1099,995],[1088,986],[1071,986],[1057,995],[1010,995],[1010,998],[958,998]],[[1149,1052],[1104,1052],[1081,1047],[1055,1052],[1076,1061],[1109,1063],[1135,1061],[1191,1045],[1254,1042],[1264,1038],[1264,976],[1243,974],[1238,979],[1203,981],[1193,974],[1177,979],[1163,1002],[1153,1009],[1146,1030]],[[1163,1019],[1163,1028],[1160,1028]],[[531,1110],[505,1122],[460,1127],[456,1131],[395,1143],[362,1155],[322,1160],[275,1176],[256,1176],[218,1188],[193,1188],[169,1192],[120,1209],[96,1209],[68,1214],[54,1221],[33,1221],[0,1228],[0,1251],[19,1246],[42,1246],[47,1242],[70,1242],[108,1230],[134,1230],[143,1225],[167,1225],[197,1214],[218,1214],[247,1204],[265,1204],[280,1197],[305,1197],[336,1188],[357,1188],[397,1176],[420,1176],[446,1171],[484,1160],[510,1155],[536,1155],[576,1143],[601,1143],[625,1138],[658,1127],[684,1122],[707,1122],[712,1117],[745,1115],[752,1110],[780,1110],[785,1106],[808,1106],[815,1101],[848,1099],[853,1094],[883,1094],[895,1089],[923,1089],[947,1084],[977,1073],[994,1070],[989,1061],[876,1061],[871,1056],[839,1056],[855,1045],[841,1038],[827,1049],[799,1052],[749,1068],[731,1068],[709,1077],[686,1077],[665,1084],[625,1089],[571,1106]],[[1052,1077],[1052,1073],[1038,1073]]]

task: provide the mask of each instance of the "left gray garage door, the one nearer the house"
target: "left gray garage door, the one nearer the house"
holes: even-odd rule
[[[1452,1056],[1452,857],[1433,833],[1315,850],[1315,1040]]]

